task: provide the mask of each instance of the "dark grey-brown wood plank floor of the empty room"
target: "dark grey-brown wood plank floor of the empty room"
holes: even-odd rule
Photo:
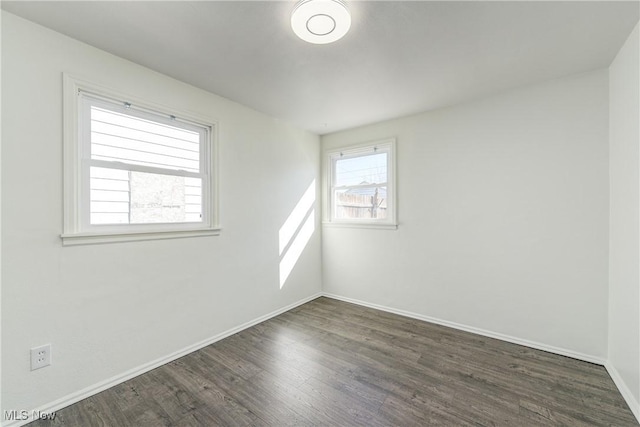
[[[40,425],[638,424],[602,366],[319,298]]]

